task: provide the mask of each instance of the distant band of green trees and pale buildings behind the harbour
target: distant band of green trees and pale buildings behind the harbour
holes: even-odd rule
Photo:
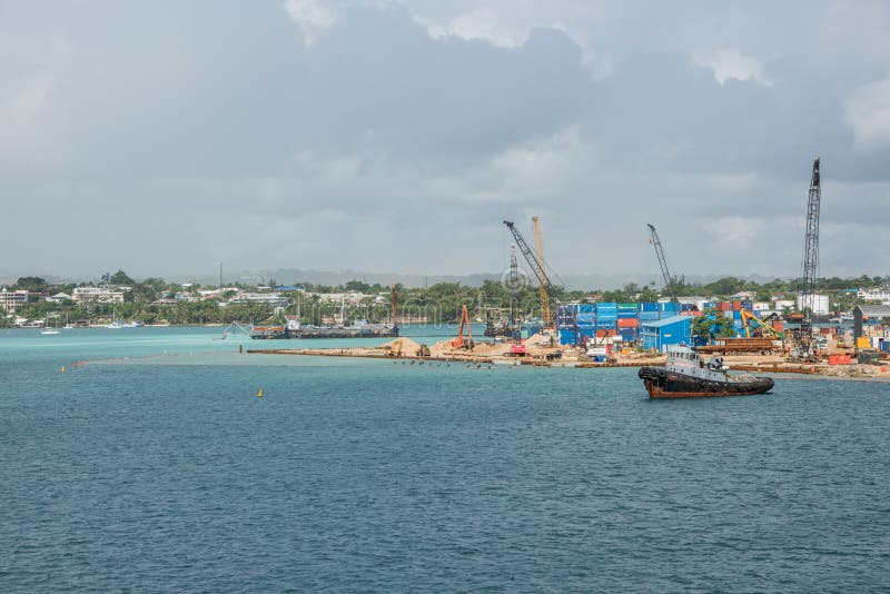
[[[820,279],[819,290],[828,295],[832,311],[849,311],[857,304],[857,289],[877,287],[890,279],[862,275],[856,278]],[[117,291],[117,301],[77,303],[72,293],[78,287],[105,287]],[[748,291],[752,300],[789,298],[801,288],[800,279],[775,279],[755,283],[725,277],[713,283],[688,284],[679,280],[679,297],[705,296],[728,299]],[[67,320],[81,326],[102,325],[115,320],[139,320],[145,325],[228,325],[264,323],[299,311],[305,324],[329,324],[335,320],[365,319],[370,323],[390,320],[390,287],[352,280],[340,286],[298,284],[268,286],[225,284],[222,287],[198,284],[172,284],[161,278],[134,280],[122,270],[105,275],[100,283],[50,284],[40,277],[21,277],[7,291],[27,291],[27,301],[14,314],[0,306],[0,327],[26,320]],[[453,324],[466,305],[477,321],[486,315],[497,318],[510,308],[513,294],[502,283],[486,280],[481,287],[459,283],[441,283],[424,288],[396,285],[398,319],[402,324]],[[654,284],[627,284],[621,289],[566,290],[555,286],[551,304],[583,301],[655,301],[664,291]],[[516,291],[523,317],[540,317],[537,288],[532,284]],[[792,308],[793,311],[793,308]]]

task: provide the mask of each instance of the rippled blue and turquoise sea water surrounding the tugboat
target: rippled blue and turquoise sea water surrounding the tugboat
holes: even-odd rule
[[[890,588],[888,384],[650,402],[220,331],[0,330],[0,591]]]

